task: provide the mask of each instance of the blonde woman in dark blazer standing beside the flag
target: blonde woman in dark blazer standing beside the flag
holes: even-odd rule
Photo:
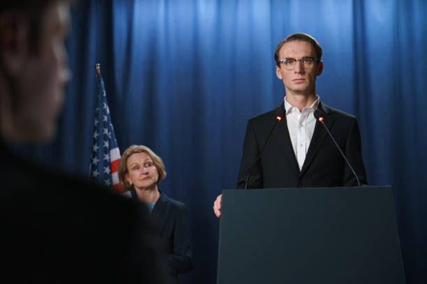
[[[119,162],[119,180],[135,200],[147,205],[156,225],[156,237],[170,268],[167,283],[179,283],[178,274],[193,269],[193,243],[187,207],[158,189],[166,178],[165,164],[155,152],[144,145],[131,145]]]

